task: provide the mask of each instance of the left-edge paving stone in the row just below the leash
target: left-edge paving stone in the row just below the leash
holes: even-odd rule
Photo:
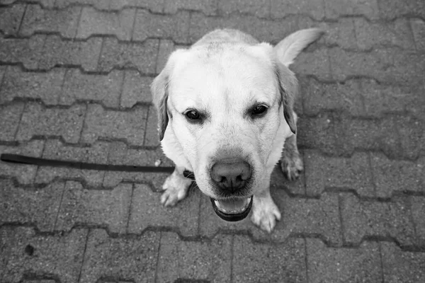
[[[64,183],[30,189],[0,180],[0,224],[34,224],[40,231],[53,231],[63,191]]]

